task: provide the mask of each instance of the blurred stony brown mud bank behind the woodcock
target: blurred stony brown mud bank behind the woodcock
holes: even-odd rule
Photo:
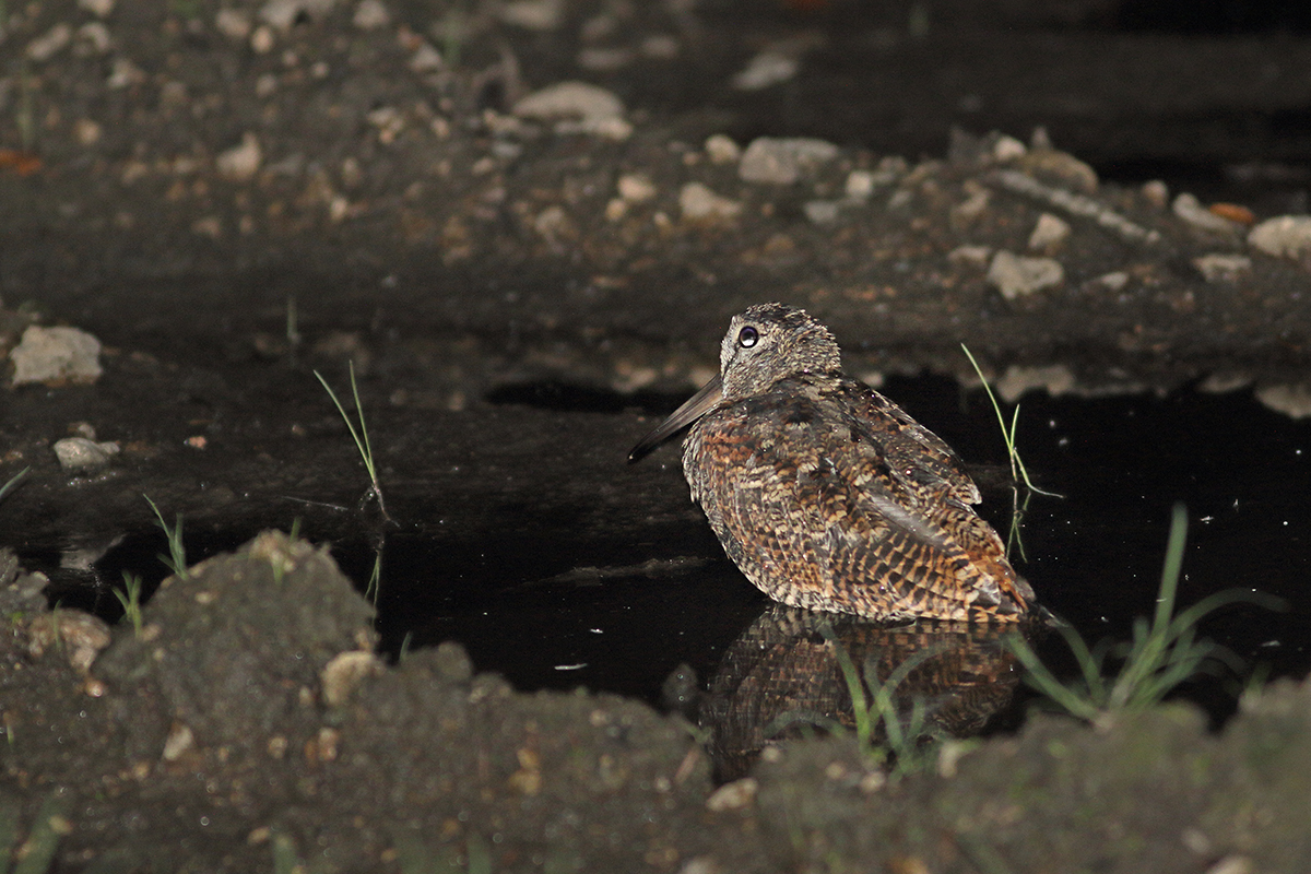
[[[686,385],[690,350],[768,299],[812,308],[871,372],[969,377],[965,341],[1015,393],[1304,394],[1304,241],[1249,241],[1306,208],[1297,126],[1261,127],[1306,104],[1301,37],[1110,35],[1096,3],[1011,4],[1007,26],[859,4],[325,5],[16,13],[10,307],[168,358],[368,356],[454,405],[524,379]],[[1015,68],[1036,51],[1040,79]],[[737,77],[771,58],[794,75]],[[557,90],[579,79],[593,90]],[[762,135],[827,144],[760,155]],[[1213,212],[1215,194],[1104,183],[1088,161],[1251,172]],[[1278,197],[1239,181],[1257,177]]]

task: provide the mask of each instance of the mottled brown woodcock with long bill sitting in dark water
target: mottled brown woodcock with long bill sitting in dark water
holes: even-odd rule
[[[975,515],[954,452],[842,371],[827,328],[760,304],[733,318],[720,375],[638,443],[691,425],[683,472],[729,558],[770,598],[876,620],[1013,621],[1033,590]]]

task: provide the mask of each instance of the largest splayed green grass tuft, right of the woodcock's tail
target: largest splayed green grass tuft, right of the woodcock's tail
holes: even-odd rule
[[[1071,715],[1101,725],[1121,710],[1142,710],[1159,704],[1180,683],[1201,672],[1207,663],[1232,663],[1228,650],[1211,641],[1197,639],[1197,625],[1207,613],[1224,604],[1251,601],[1269,609],[1283,603],[1257,592],[1227,590],[1203,598],[1188,609],[1175,613],[1179,577],[1188,539],[1188,512],[1176,503],[1171,515],[1165,563],[1162,569],[1156,611],[1148,622],[1134,621],[1133,641],[1101,641],[1089,647],[1068,625],[1058,626],[1061,636],[1079,663],[1080,676],[1070,684],[1061,680],[1038,660],[1037,653],[1021,637],[1007,641],[1011,651],[1025,667],[1025,681]],[[1120,663],[1113,676],[1106,675],[1108,659]]]

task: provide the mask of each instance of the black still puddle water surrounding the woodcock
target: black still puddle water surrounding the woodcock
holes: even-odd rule
[[[1006,539],[1009,469],[983,393],[937,377],[891,379],[882,390],[978,465],[982,512]],[[597,398],[579,397],[543,388],[503,392],[499,400],[557,410],[562,432],[577,415],[574,402],[593,413],[633,415],[623,411],[621,400],[598,408]],[[682,398],[642,400],[656,417]],[[1282,598],[1282,612],[1226,607],[1207,617],[1202,634],[1248,664],[1262,664],[1269,676],[1311,670],[1311,421],[1272,413],[1247,392],[1101,400],[1030,394],[1021,402],[1019,444],[1036,482],[1062,497],[1029,498],[1019,525],[1023,556],[1013,548],[1012,561],[1040,601],[1089,643],[1127,639],[1134,617],[1152,613],[1171,507],[1184,502],[1189,527],[1180,607],[1230,588]],[[619,463],[628,448],[615,446],[614,476],[637,482]],[[684,501],[678,463],[676,442],[658,449],[642,465],[665,465],[669,476],[645,477],[642,489],[654,482]],[[649,501],[635,487],[633,504],[640,508],[644,498]],[[579,525],[573,535],[569,524],[544,518],[519,495],[506,506],[448,510],[452,519],[463,512],[479,523],[425,523],[388,533],[376,600],[383,649],[396,655],[404,647],[458,641],[480,670],[501,672],[520,689],[586,687],[659,701],[680,664],[703,685],[717,681],[725,654],[742,649],[734,650],[739,638],[773,641],[784,660],[821,639],[818,629],[806,632],[809,638],[788,638],[802,620],[756,622],[768,603],[725,558],[700,512],[684,506],[683,516],[665,515],[658,524],[635,512],[636,522],[616,523],[608,533]],[[287,525],[283,519],[250,524]],[[189,560],[236,546],[250,533],[211,533],[203,542],[189,535]],[[374,569],[375,546],[364,535],[334,542],[334,556],[361,590]],[[128,536],[100,562],[97,578],[115,584],[126,567],[146,574],[149,588],[152,575],[163,575],[155,561],[160,552],[159,532]],[[117,618],[113,596],[79,596],[75,582],[52,587],[51,596]],[[912,649],[905,636],[884,646],[867,632],[853,634],[869,653]],[[965,666],[977,680],[999,670],[990,641],[966,634],[943,646],[956,654],[950,671]],[[1075,675],[1059,636],[1041,639],[1040,653],[1058,674]],[[949,672],[941,664],[933,670]],[[1184,694],[1221,718],[1232,708],[1238,683],[1203,677]]]

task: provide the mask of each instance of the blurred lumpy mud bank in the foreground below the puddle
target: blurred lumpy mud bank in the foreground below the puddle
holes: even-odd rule
[[[773,750],[716,789],[704,726],[682,717],[519,693],[455,645],[383,664],[367,601],[324,552],[282,535],[170,578],[139,630],[88,630],[84,615],[45,609],[43,580],[4,567],[0,835],[18,856],[51,853],[51,870],[1311,861],[1304,684],[1249,693],[1218,736],[1186,705],[1099,730],[1036,717],[889,782],[847,734]]]

